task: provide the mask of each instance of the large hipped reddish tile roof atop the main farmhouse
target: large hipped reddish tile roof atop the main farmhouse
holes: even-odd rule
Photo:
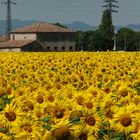
[[[37,33],[37,32],[74,32],[71,29],[62,28],[46,22],[36,23],[13,30],[11,33]]]

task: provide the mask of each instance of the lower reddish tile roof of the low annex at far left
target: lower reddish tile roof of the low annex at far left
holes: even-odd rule
[[[9,40],[0,43],[0,48],[21,48],[25,45],[31,44],[34,40]]]

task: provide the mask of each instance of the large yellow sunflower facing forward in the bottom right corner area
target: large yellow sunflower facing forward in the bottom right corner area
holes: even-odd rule
[[[114,109],[113,123],[112,128],[119,132],[130,134],[134,132],[136,123],[137,123],[137,110],[136,106],[133,104],[124,106],[124,107],[116,107]]]

